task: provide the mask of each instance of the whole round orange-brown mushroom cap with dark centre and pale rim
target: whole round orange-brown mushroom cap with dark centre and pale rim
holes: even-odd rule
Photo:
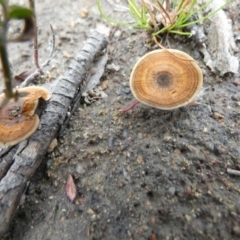
[[[139,102],[165,110],[192,102],[202,84],[202,71],[196,61],[175,49],[146,54],[130,76],[130,88]]]

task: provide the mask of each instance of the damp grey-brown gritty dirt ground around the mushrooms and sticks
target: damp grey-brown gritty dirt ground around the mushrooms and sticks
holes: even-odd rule
[[[227,13],[240,49],[240,2],[233,2]],[[147,34],[107,24],[94,0],[43,0],[36,7],[40,62],[49,54],[50,23],[59,50],[42,81],[62,74],[98,29],[109,33],[102,77],[108,97],[81,104],[72,116],[32,177],[8,239],[240,239],[240,181],[227,173],[240,170],[240,75],[212,74],[190,40],[170,36],[171,47],[189,53],[202,68],[201,104],[174,111],[139,104],[122,115],[119,110],[134,101],[131,69],[156,48]],[[106,9],[112,16],[124,14]],[[9,46],[15,72],[33,67],[31,47]],[[69,174],[77,186],[73,203],[65,192]]]

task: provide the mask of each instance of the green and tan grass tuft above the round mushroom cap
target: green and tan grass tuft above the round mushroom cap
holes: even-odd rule
[[[153,36],[167,32],[191,36],[191,32],[186,31],[186,27],[208,19],[231,2],[227,0],[216,10],[196,19],[197,13],[208,7],[212,1],[209,0],[197,8],[197,0],[141,0],[140,2],[128,0],[129,13],[134,20],[132,24],[109,18],[102,10],[101,0],[97,0],[97,5],[101,16],[114,24],[144,29],[150,31]]]

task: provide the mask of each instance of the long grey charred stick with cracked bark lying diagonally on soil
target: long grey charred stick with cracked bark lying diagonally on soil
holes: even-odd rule
[[[89,37],[83,49],[70,62],[64,76],[58,79],[52,97],[41,115],[40,129],[31,136],[26,146],[21,146],[17,152],[16,147],[13,147],[0,159],[0,168],[1,163],[9,167],[7,172],[2,173],[0,180],[0,238],[8,230],[27,181],[35,173],[63,124],[68,107],[84,80],[90,63],[106,46],[107,40],[101,34],[95,32]],[[12,155],[11,151],[14,151]]]

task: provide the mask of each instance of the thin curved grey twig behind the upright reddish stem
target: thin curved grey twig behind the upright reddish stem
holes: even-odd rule
[[[42,69],[44,67],[46,67],[50,61],[54,58],[54,56],[57,54],[57,51],[55,51],[55,34],[52,28],[52,25],[50,25],[51,28],[51,32],[52,32],[52,47],[50,50],[50,54],[49,54],[49,58],[40,66],[40,70],[42,71]],[[35,51],[34,51],[34,55],[35,55]],[[34,57],[35,59],[35,57]],[[26,87],[28,86],[32,81],[34,81],[35,79],[37,79],[41,73],[41,71],[39,71],[39,69],[37,68],[36,71],[34,71],[32,74],[30,74],[21,84],[21,87]]]

